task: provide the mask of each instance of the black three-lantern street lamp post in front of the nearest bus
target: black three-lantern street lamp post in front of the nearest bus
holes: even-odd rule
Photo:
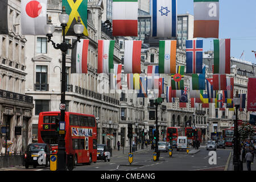
[[[74,25],[74,31],[77,36],[77,39],[69,44],[65,41],[65,27],[69,20],[69,15],[65,13],[65,7],[63,7],[62,13],[59,15],[59,20],[62,27],[63,33],[63,42],[60,44],[55,44],[51,40],[52,34],[55,31],[55,26],[51,23],[51,16],[48,17],[48,22],[45,26],[46,36],[48,37],[48,42],[51,42],[55,49],[60,49],[62,52],[62,68],[61,68],[61,100],[60,104],[65,105],[65,85],[66,85],[66,52],[68,49],[73,49],[77,42],[80,42],[82,32],[84,31],[84,26],[80,23],[80,17],[78,17],[77,23]],[[65,122],[65,109],[60,110],[60,121]],[[59,171],[66,170],[66,153],[65,153],[65,133],[59,133],[59,144],[58,144],[58,153],[57,153],[57,169]]]

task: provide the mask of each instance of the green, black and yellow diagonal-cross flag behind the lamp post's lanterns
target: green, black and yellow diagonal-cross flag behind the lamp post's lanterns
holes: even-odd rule
[[[84,35],[88,36],[87,31],[87,2],[88,0],[62,0],[62,6],[65,6],[66,13],[69,15],[68,26],[65,29],[65,35],[76,35],[73,26],[77,23],[77,17],[81,17],[81,23],[84,25]]]

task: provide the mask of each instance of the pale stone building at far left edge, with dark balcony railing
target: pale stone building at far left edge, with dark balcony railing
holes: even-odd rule
[[[0,35],[0,153],[24,152],[32,142],[33,98],[25,95],[27,39],[20,31],[20,1],[8,2],[8,35]],[[7,131],[7,132],[6,132]],[[19,131],[19,132],[18,132]]]

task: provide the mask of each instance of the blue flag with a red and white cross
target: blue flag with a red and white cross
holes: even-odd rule
[[[186,73],[202,73],[203,40],[186,40]]]

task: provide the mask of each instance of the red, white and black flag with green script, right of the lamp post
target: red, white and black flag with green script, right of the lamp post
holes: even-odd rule
[[[73,40],[75,41],[75,40]],[[89,40],[81,39],[75,44],[71,55],[71,73],[87,73]]]

